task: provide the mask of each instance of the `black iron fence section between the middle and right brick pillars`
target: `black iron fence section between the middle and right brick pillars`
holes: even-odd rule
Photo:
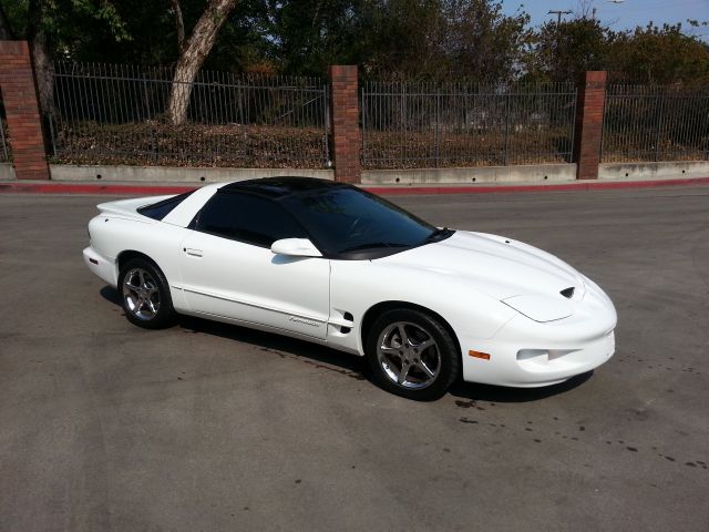
[[[571,162],[576,88],[364,83],[364,167]]]

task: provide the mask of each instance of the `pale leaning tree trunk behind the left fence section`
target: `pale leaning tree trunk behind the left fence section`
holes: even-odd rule
[[[189,40],[181,50],[167,104],[167,115],[174,125],[182,124],[187,117],[192,84],[212,47],[214,47],[219,28],[236,6],[236,1],[209,0],[209,4],[197,21]]]

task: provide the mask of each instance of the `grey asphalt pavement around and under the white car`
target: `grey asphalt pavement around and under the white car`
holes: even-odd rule
[[[374,388],[84,266],[99,196],[0,196],[0,530],[709,530],[709,187],[397,197],[596,280],[616,356],[553,388]]]

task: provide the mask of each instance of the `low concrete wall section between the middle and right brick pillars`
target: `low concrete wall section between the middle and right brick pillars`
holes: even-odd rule
[[[362,184],[544,183],[574,181],[576,164],[481,166],[470,168],[366,170]]]

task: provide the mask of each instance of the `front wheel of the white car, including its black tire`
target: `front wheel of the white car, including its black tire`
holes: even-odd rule
[[[425,347],[429,340],[434,344]],[[423,349],[417,349],[419,346]],[[421,310],[384,311],[367,331],[364,351],[372,381],[407,399],[440,399],[461,371],[456,340],[439,318]]]

